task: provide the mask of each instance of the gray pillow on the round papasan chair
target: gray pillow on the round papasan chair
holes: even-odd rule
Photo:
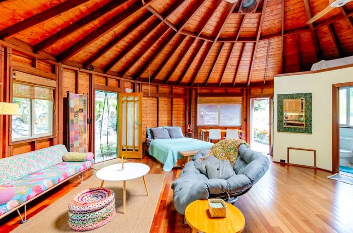
[[[235,173],[228,160],[205,165],[208,179],[227,180]]]

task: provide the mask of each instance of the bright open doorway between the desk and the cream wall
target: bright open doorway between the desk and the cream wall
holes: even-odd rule
[[[270,98],[251,98],[251,149],[270,154]]]

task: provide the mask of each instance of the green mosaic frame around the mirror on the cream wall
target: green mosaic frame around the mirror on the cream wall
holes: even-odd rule
[[[305,99],[305,127],[284,127],[283,121],[283,100],[284,99]],[[311,134],[313,132],[313,94],[297,93],[297,94],[278,94],[277,95],[277,132],[302,133]]]

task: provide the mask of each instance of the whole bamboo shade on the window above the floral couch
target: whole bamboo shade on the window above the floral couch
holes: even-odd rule
[[[56,87],[55,80],[49,80],[21,71],[14,71],[13,78],[13,97],[54,101],[53,91]]]

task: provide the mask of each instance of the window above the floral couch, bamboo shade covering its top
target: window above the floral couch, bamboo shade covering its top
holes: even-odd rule
[[[12,101],[19,105],[19,113],[12,115],[12,141],[52,135],[52,88],[14,82]]]

